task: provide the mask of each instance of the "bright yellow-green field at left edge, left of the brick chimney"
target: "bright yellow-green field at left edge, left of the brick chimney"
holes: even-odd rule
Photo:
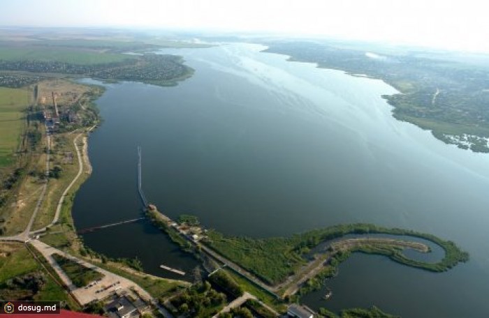
[[[24,126],[24,113],[29,105],[29,91],[0,87],[0,167],[13,162]]]

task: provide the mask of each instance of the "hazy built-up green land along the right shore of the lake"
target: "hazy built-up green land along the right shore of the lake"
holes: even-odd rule
[[[382,79],[400,92],[383,96],[396,119],[459,148],[489,152],[489,69],[478,56],[319,41],[265,44],[265,52],[289,55],[290,61]]]

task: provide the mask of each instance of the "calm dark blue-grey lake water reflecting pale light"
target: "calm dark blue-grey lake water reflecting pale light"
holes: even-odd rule
[[[395,89],[259,45],[164,50],[196,69],[175,87],[110,84],[89,139],[94,172],[75,198],[78,228],[134,218],[143,188],[170,217],[198,215],[226,234],[277,236],[374,222],[451,239],[471,260],[447,273],[355,255],[330,280],[331,310],[377,305],[403,317],[488,317],[489,156],[393,119]],[[196,262],[146,222],[84,236],[94,250],[190,271]]]

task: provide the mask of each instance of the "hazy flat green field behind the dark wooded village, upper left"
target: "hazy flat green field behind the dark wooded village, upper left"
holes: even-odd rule
[[[80,50],[67,47],[10,46],[0,47],[0,60],[5,61],[45,61],[79,65],[94,65],[122,62],[131,59],[122,54]]]

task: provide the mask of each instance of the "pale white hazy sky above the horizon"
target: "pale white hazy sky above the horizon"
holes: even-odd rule
[[[0,0],[0,25],[272,32],[489,53],[484,0]]]

